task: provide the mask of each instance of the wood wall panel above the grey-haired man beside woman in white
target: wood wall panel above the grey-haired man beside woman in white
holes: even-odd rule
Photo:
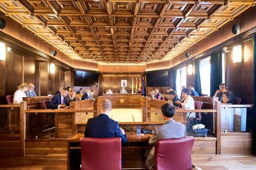
[[[24,81],[35,84],[35,60],[23,57],[24,59]]]

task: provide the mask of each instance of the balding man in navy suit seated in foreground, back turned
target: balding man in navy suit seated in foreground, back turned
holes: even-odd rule
[[[121,137],[122,144],[127,143],[124,129],[119,127],[117,121],[114,121],[108,116],[111,109],[111,101],[108,99],[103,100],[101,103],[101,114],[87,121],[85,137]]]

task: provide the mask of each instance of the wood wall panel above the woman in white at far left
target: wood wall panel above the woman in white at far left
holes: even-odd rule
[[[22,83],[22,56],[14,53],[6,55],[6,95],[14,94]]]

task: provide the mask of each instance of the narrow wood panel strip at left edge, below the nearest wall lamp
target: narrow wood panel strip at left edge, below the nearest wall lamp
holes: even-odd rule
[[[6,103],[6,61],[0,60],[0,104]]]

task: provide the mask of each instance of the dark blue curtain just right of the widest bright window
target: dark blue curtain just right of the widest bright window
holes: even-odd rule
[[[211,96],[219,89],[222,82],[221,51],[211,54]]]

